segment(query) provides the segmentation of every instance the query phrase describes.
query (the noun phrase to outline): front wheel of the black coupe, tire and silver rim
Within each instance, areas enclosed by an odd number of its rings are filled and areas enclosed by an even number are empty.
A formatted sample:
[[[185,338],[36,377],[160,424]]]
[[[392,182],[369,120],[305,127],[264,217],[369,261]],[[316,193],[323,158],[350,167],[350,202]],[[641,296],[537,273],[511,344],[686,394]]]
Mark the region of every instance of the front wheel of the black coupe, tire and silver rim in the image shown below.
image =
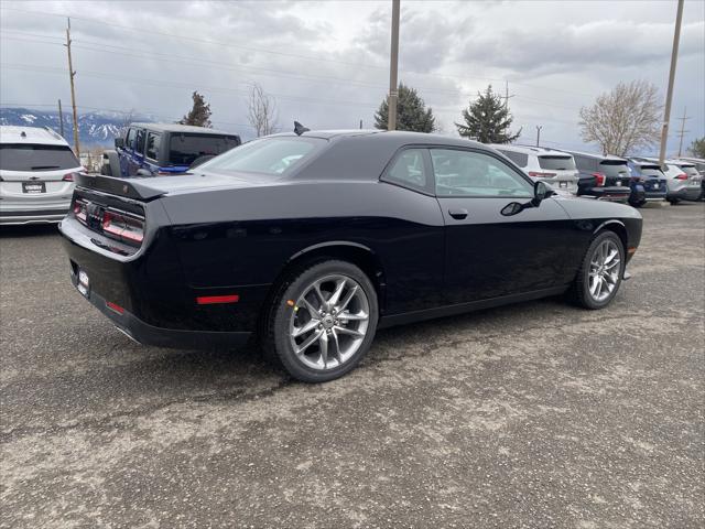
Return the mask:
[[[605,251],[608,252],[605,253]],[[617,255],[612,259],[608,259],[612,251],[617,251]],[[614,263],[615,258],[619,259],[616,264]],[[600,260],[604,262],[600,263]],[[610,264],[611,268],[609,268]],[[568,290],[568,299],[585,309],[604,309],[619,291],[625,266],[625,245],[619,236],[610,230],[597,234],[590,241],[581,268]],[[615,272],[615,268],[618,271]],[[596,283],[599,283],[597,289],[595,288]]]

